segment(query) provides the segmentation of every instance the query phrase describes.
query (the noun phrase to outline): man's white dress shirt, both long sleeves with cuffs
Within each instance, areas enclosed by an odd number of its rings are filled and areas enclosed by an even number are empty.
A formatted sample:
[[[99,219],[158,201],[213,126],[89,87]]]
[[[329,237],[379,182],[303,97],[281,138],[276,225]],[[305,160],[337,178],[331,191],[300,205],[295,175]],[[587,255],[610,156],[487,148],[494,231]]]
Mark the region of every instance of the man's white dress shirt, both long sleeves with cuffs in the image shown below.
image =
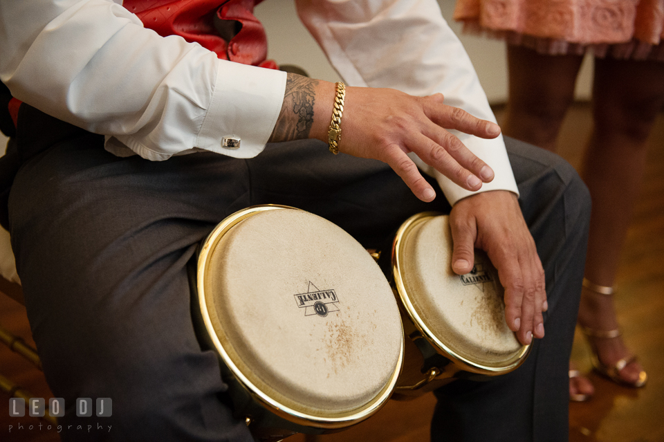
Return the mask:
[[[268,0],[269,1],[269,0]],[[259,154],[286,74],[220,60],[144,28],[120,0],[0,0],[0,80],[19,100],[106,136],[116,155]],[[220,0],[221,3],[221,0]],[[300,19],[349,86],[441,92],[495,121],[470,59],[435,0],[296,0]],[[518,193],[504,142],[455,133],[496,173],[481,191]],[[224,137],[241,139],[238,149]],[[419,158],[450,203],[472,194]]]

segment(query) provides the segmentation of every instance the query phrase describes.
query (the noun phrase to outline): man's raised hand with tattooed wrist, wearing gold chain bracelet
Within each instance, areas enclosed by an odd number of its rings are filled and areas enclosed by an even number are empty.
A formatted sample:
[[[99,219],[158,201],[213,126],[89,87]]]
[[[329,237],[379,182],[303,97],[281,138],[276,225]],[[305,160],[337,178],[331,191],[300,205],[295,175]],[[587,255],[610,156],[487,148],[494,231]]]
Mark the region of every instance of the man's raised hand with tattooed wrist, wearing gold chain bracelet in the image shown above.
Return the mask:
[[[288,74],[282,111],[270,141],[317,138],[327,142],[335,85]],[[339,151],[387,163],[422,201],[436,196],[415,163],[425,163],[464,189],[479,190],[494,173],[447,129],[495,138],[500,128],[443,104],[443,95],[414,97],[394,89],[348,87]]]

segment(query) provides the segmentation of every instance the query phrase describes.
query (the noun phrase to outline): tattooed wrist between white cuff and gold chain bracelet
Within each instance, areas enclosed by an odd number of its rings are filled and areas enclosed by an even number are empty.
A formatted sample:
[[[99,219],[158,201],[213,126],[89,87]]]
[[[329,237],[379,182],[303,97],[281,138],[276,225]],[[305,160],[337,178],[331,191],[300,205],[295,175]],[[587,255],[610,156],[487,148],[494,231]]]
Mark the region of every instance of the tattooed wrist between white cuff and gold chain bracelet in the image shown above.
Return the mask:
[[[313,125],[313,104],[317,80],[289,73],[286,94],[270,142],[308,138]]]

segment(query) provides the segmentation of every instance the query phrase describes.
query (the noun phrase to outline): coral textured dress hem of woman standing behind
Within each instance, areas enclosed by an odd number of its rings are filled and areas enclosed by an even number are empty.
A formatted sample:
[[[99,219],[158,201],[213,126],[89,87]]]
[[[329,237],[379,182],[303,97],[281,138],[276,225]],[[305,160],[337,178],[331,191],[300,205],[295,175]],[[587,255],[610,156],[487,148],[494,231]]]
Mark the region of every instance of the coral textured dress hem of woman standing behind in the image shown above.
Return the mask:
[[[458,0],[454,19],[539,53],[664,61],[664,0]]]

